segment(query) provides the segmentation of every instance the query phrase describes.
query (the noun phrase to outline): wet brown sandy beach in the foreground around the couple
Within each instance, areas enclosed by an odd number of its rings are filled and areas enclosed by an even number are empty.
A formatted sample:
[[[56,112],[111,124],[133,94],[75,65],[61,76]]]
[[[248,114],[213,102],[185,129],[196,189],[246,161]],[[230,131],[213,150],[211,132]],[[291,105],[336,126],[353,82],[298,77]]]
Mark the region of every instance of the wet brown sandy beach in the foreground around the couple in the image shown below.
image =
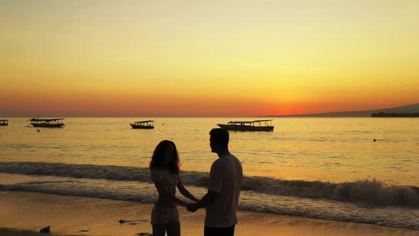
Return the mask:
[[[0,192],[0,235],[137,235],[151,232],[153,205],[121,200],[31,192]],[[182,235],[203,235],[204,210],[180,210]],[[119,223],[119,220],[124,223]],[[236,235],[419,235],[418,230],[239,212]]]

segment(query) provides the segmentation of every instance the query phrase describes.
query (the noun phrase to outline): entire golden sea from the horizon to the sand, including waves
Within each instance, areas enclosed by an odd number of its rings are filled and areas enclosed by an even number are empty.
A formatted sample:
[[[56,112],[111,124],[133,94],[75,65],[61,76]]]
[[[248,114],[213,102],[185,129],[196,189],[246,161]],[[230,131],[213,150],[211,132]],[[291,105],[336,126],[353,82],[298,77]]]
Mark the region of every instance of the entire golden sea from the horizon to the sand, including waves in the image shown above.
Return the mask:
[[[4,119],[0,191],[153,203],[148,164],[160,141],[175,142],[181,179],[200,198],[218,158],[209,131],[268,118],[68,117],[62,128]],[[131,129],[145,119],[155,129]],[[230,132],[244,168],[240,210],[419,230],[419,119],[269,119],[273,132]]]

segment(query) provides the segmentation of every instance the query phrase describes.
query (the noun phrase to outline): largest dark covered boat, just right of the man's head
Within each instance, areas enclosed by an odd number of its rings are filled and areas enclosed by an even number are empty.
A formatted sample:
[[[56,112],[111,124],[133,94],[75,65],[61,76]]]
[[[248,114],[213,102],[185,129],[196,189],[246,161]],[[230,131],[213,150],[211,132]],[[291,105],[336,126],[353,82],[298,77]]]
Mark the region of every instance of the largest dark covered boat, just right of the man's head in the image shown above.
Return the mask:
[[[273,131],[272,119],[258,119],[249,122],[231,121],[227,124],[217,124],[222,129],[235,131]]]

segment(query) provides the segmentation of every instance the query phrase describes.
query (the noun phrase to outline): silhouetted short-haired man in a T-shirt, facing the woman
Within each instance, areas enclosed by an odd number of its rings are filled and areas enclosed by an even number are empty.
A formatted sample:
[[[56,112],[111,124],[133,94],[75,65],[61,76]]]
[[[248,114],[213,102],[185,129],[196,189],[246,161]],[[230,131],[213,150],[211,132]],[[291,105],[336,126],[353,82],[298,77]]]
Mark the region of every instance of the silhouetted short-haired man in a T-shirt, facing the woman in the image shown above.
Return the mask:
[[[207,208],[205,215],[205,236],[234,235],[237,224],[236,211],[243,178],[243,169],[236,156],[229,152],[229,132],[212,129],[209,132],[209,146],[218,155],[209,172],[208,192],[197,203],[187,205],[187,210],[195,212]]]

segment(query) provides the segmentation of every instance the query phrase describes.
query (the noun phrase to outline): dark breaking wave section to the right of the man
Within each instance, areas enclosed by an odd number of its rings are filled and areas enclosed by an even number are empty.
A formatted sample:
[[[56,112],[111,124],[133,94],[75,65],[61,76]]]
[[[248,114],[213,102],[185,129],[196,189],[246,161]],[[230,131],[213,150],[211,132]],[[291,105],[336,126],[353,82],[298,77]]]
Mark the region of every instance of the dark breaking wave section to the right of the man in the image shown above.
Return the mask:
[[[257,176],[245,177],[243,189],[272,195],[295,195],[303,198],[328,198],[372,205],[401,205],[419,208],[418,187],[393,186],[376,179],[330,183],[288,181]]]

